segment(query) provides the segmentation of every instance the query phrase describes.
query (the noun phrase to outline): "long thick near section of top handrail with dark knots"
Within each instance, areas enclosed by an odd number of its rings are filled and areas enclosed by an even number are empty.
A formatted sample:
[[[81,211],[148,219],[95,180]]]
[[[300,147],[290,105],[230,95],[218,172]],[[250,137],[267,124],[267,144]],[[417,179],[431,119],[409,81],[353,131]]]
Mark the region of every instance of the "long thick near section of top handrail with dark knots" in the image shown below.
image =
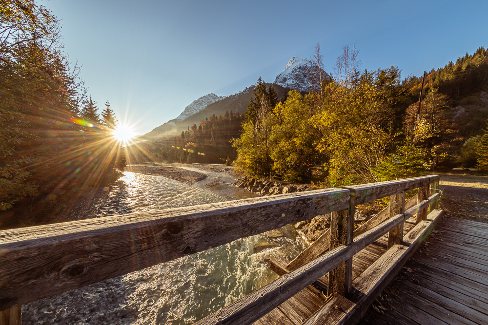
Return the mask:
[[[346,209],[348,199],[328,189],[4,230],[0,309]]]

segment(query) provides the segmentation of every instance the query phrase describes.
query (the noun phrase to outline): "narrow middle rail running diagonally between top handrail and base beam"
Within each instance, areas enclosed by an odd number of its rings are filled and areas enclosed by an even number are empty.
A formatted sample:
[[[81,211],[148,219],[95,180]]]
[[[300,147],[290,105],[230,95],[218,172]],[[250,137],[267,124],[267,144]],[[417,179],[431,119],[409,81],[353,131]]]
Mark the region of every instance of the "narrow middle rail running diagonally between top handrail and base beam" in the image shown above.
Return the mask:
[[[428,201],[422,204],[427,206]],[[409,211],[405,215],[397,215],[387,220],[355,238],[349,246],[339,246],[332,249],[306,265],[248,294],[241,300],[205,317],[196,324],[252,324],[256,319],[259,319],[298,291],[324,276],[325,273],[346,262],[351,256],[366,248],[379,236],[397,227],[405,220],[408,213]]]

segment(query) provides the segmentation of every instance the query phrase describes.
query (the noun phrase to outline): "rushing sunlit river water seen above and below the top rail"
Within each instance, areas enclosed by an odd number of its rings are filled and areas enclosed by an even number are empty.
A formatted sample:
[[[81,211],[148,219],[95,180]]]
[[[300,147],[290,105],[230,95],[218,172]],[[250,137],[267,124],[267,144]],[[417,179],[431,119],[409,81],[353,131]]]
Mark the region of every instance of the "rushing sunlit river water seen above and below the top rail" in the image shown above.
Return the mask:
[[[125,172],[92,216],[226,201],[204,188]],[[270,238],[277,237],[278,238]],[[304,249],[293,228],[260,234],[24,305],[24,324],[192,324],[277,276],[269,259]]]

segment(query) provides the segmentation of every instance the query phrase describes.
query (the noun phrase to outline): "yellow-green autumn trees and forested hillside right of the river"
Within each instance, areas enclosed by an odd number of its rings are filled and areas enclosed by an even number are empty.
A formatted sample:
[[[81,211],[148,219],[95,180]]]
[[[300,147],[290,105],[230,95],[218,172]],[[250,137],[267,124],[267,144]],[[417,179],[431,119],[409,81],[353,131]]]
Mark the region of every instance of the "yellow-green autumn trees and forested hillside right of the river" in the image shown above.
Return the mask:
[[[305,96],[291,91],[276,105],[258,85],[243,134],[233,141],[238,169],[338,186],[480,163],[480,143],[488,143],[482,138],[488,109],[483,47],[427,75],[418,122],[422,78],[401,79],[393,65],[360,71],[356,58],[345,47],[336,74],[320,89]]]

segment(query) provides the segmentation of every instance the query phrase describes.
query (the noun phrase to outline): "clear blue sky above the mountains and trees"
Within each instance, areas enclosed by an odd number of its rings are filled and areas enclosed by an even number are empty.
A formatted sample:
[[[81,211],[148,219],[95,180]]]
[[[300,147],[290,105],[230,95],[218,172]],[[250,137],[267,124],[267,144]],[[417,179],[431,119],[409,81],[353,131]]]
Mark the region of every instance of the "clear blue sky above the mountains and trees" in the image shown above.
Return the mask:
[[[364,69],[421,75],[488,46],[488,1],[40,1],[62,19],[88,94],[137,134],[208,93],[227,96],[321,43],[330,72],[344,45]]]

